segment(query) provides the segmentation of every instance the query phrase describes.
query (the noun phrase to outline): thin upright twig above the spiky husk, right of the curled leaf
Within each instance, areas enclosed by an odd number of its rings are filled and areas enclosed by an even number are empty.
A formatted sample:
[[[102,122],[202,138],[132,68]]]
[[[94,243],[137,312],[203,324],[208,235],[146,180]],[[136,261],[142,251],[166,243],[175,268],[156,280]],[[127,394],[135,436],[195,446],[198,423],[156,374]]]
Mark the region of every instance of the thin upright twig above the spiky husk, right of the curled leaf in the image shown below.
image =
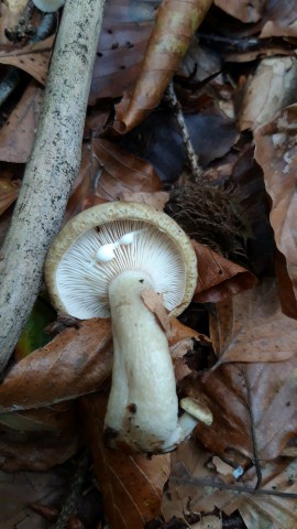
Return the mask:
[[[199,160],[198,156],[194,150],[187,126],[185,123],[183,110],[180,102],[178,101],[175,90],[174,90],[174,85],[173,83],[169,83],[168,88],[167,88],[167,100],[169,105],[172,106],[174,110],[174,116],[178,126],[179,133],[182,136],[185,151],[186,151],[186,158],[188,165],[190,168],[190,171],[196,179],[200,179],[204,174],[202,168],[199,165]]]

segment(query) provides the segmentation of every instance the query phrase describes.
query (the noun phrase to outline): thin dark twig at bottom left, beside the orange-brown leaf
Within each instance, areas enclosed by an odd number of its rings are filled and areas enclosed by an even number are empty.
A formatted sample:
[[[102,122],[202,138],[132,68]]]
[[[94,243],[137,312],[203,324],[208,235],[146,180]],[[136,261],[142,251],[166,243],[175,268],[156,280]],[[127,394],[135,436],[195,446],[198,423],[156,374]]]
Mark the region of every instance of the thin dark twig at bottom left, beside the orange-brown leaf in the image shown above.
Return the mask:
[[[65,529],[69,516],[72,514],[75,514],[79,495],[81,492],[81,487],[84,485],[84,482],[86,479],[86,475],[88,472],[89,461],[90,458],[89,458],[88,452],[85,451],[79,460],[78,468],[74,476],[70,492],[63,504],[57,521],[55,522],[54,526],[52,526],[51,529]]]

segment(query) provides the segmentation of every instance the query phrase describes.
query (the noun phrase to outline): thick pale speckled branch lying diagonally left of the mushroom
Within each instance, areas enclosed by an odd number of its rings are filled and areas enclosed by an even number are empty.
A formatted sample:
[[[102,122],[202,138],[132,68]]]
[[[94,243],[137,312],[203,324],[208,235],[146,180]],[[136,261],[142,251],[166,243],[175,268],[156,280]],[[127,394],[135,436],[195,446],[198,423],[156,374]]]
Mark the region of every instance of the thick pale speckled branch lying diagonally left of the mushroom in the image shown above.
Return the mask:
[[[0,263],[0,371],[42,282],[47,249],[80,163],[81,138],[105,0],[67,0],[35,143]]]

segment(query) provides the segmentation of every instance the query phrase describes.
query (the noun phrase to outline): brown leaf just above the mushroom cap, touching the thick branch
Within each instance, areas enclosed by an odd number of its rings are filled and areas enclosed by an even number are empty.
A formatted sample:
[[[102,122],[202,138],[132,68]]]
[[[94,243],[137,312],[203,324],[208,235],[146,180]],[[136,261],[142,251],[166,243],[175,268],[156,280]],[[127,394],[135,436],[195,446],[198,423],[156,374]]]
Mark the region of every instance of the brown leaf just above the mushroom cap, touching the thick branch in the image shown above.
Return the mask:
[[[116,143],[95,138],[82,147],[80,170],[65,222],[96,203],[118,201],[123,192],[155,192],[161,186],[158,175],[148,162]]]

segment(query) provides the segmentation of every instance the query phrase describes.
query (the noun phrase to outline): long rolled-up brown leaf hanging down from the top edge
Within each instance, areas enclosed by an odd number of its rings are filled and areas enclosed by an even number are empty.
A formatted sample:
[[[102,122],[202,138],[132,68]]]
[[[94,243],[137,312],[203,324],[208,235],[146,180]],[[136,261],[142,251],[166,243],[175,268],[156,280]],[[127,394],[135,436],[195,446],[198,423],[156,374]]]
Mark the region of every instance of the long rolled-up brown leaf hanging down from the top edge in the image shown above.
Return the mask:
[[[125,95],[117,107],[117,132],[136,127],[160,104],[211,4],[212,0],[163,0],[133,95]]]

